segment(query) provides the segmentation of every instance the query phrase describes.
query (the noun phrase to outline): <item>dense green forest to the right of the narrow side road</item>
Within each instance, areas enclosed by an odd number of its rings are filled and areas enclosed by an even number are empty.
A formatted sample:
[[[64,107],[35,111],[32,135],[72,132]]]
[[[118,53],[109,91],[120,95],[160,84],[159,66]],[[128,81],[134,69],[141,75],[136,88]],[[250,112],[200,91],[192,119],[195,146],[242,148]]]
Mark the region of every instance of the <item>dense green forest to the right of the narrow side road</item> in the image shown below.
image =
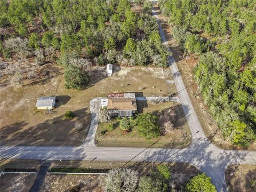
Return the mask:
[[[256,139],[255,1],[160,1],[183,57],[199,57],[199,90],[223,136]]]

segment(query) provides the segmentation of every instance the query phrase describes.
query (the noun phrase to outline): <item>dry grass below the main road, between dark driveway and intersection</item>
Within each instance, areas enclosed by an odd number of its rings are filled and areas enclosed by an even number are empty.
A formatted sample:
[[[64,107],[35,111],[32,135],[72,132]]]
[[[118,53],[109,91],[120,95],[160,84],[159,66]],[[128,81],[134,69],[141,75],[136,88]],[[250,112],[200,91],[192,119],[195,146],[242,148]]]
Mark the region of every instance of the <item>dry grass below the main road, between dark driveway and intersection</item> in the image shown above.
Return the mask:
[[[94,169],[113,169],[125,167],[137,170],[140,177],[150,175],[156,172],[156,166],[165,164],[171,171],[172,179],[177,189],[185,186],[186,183],[195,175],[201,173],[196,167],[188,163],[158,163],[158,162],[77,162],[77,161],[63,161],[62,163],[54,164],[54,168],[61,167],[90,167]],[[74,186],[81,186],[81,191],[102,191],[103,185],[102,176],[89,176],[89,175],[46,175],[44,184],[41,191],[67,191]]]

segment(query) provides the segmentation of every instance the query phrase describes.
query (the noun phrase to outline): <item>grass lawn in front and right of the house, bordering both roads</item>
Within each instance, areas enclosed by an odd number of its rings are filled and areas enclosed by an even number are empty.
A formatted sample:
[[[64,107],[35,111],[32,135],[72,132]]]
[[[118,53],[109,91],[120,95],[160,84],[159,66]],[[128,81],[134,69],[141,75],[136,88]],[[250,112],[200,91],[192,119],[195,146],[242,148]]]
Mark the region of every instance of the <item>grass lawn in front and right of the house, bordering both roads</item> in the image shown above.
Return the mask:
[[[144,102],[138,102],[138,109],[142,113],[147,112],[160,112],[162,113],[166,109],[173,108],[176,111],[174,119],[175,129],[163,137],[157,139],[146,140],[140,137],[138,134],[138,126],[136,120],[131,120],[131,131],[124,135],[122,130],[119,128],[119,121],[116,119],[110,122],[114,125],[115,129],[107,131],[102,134],[102,131],[107,130],[109,123],[99,123],[98,130],[95,139],[98,140],[97,146],[109,146],[109,147],[155,147],[155,148],[182,148],[189,145],[191,138],[189,137],[190,131],[186,122],[186,117],[183,114],[182,108],[178,103],[164,102],[157,103],[156,105],[146,104]],[[182,135],[187,134],[187,137]]]

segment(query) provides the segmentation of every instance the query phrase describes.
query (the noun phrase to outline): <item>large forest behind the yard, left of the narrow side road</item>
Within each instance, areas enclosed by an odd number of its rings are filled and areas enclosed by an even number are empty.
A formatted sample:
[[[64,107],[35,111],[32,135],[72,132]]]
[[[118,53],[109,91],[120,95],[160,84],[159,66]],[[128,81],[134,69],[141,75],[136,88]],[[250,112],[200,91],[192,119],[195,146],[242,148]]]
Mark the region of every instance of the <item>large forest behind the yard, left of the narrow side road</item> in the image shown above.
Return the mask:
[[[133,11],[126,0],[1,0],[1,68],[21,84],[35,73],[28,67],[25,75],[15,63],[57,61],[65,68],[65,86],[79,90],[90,81],[92,65],[166,67],[167,48],[151,16],[151,3],[133,4],[142,9]]]

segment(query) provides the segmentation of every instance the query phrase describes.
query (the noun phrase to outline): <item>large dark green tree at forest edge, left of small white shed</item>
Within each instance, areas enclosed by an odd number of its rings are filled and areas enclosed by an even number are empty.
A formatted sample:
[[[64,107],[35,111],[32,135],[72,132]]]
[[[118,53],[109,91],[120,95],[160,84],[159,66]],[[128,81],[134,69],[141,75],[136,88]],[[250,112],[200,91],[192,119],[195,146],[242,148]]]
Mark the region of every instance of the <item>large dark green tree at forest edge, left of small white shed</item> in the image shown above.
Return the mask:
[[[80,67],[69,66],[65,69],[65,87],[67,89],[82,90],[90,81],[89,74]]]

